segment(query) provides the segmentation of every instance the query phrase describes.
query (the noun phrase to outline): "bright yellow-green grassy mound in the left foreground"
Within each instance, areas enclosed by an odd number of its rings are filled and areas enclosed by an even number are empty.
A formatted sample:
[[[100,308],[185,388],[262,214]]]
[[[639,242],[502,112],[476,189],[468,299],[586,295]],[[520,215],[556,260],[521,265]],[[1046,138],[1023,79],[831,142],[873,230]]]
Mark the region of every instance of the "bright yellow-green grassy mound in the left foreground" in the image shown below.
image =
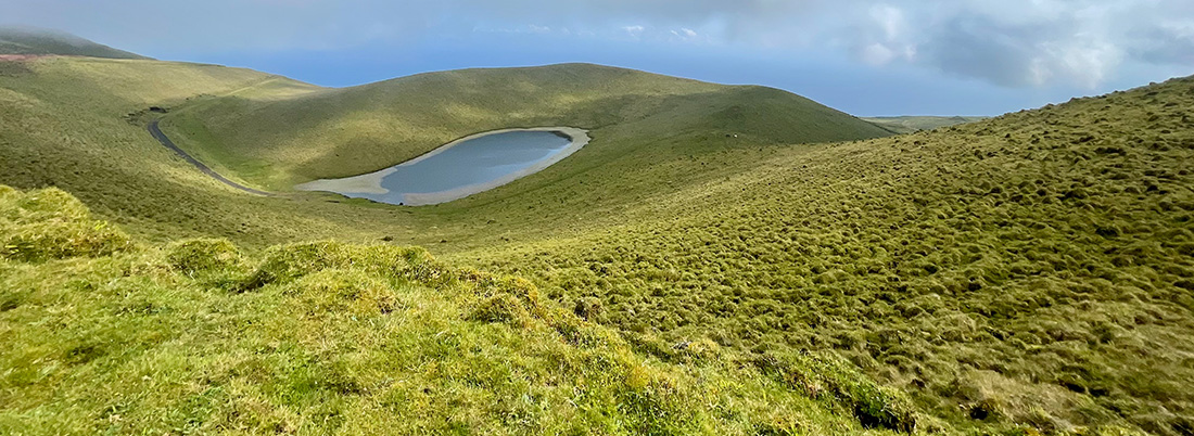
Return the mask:
[[[0,432],[891,434],[934,426],[832,355],[628,343],[421,248],[130,244],[0,186]],[[918,425],[919,424],[919,425]]]

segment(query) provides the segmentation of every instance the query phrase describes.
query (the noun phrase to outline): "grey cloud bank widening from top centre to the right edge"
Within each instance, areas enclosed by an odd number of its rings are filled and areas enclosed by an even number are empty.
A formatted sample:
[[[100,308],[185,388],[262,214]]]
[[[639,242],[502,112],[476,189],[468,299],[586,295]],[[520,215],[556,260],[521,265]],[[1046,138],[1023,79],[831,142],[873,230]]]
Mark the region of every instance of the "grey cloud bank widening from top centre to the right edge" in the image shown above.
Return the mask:
[[[838,47],[870,63],[907,63],[1007,87],[1095,87],[1125,62],[1194,67],[1189,0],[523,0],[516,5],[505,12],[535,10],[566,20],[586,17],[581,24],[683,25],[721,43],[767,45],[793,55]]]

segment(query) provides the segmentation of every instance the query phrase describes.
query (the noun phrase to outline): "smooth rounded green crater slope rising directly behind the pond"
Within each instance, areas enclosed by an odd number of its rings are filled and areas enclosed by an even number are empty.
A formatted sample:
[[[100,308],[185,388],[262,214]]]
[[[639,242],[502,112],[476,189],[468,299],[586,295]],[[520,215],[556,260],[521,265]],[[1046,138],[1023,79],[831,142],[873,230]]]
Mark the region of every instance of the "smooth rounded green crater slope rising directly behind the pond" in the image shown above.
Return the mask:
[[[288,98],[229,96],[166,117],[164,130],[205,161],[248,182],[298,182],[371,172],[451,140],[509,127],[591,129],[573,160],[602,160],[684,135],[800,143],[887,135],[802,97],[595,65],[419,74]]]

